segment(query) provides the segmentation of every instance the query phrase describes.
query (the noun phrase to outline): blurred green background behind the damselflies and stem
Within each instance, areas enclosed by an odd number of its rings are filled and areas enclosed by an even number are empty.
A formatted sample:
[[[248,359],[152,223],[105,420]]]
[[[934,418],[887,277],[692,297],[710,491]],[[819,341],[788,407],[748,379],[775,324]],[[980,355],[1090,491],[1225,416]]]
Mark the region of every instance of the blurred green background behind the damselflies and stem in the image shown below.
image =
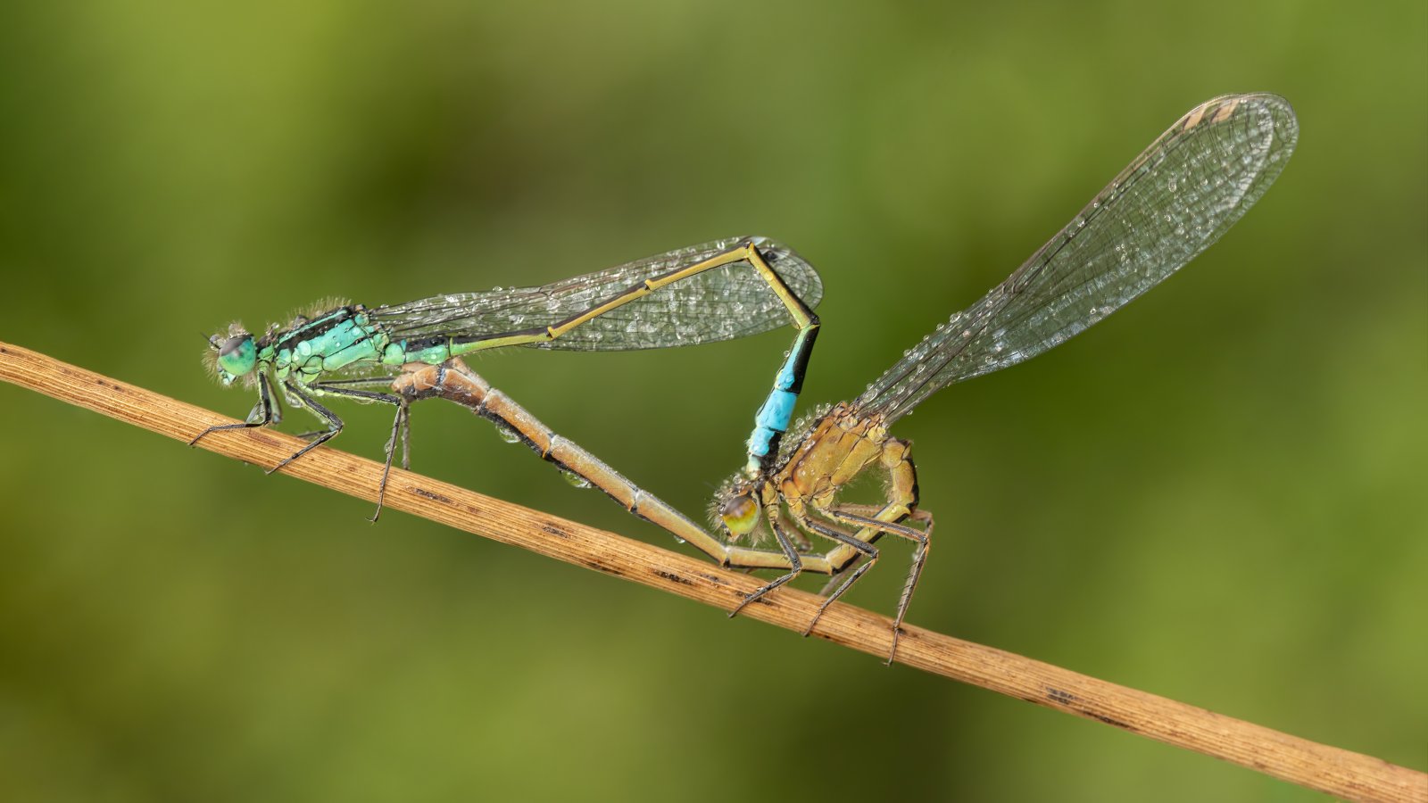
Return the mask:
[[[1194,104],[1298,153],[1191,269],[900,423],[910,620],[1415,767],[1428,10],[74,3],[0,11],[0,340],[243,416],[200,333],[763,233],[854,396]],[[700,514],[788,331],[474,363]],[[668,546],[464,410],[423,473]],[[0,387],[11,800],[1312,800]],[[377,456],[386,410],[343,406]],[[294,416],[288,432],[307,429]],[[901,546],[851,599],[890,612]],[[817,587],[817,582],[810,583]],[[757,690],[777,704],[744,706]]]

